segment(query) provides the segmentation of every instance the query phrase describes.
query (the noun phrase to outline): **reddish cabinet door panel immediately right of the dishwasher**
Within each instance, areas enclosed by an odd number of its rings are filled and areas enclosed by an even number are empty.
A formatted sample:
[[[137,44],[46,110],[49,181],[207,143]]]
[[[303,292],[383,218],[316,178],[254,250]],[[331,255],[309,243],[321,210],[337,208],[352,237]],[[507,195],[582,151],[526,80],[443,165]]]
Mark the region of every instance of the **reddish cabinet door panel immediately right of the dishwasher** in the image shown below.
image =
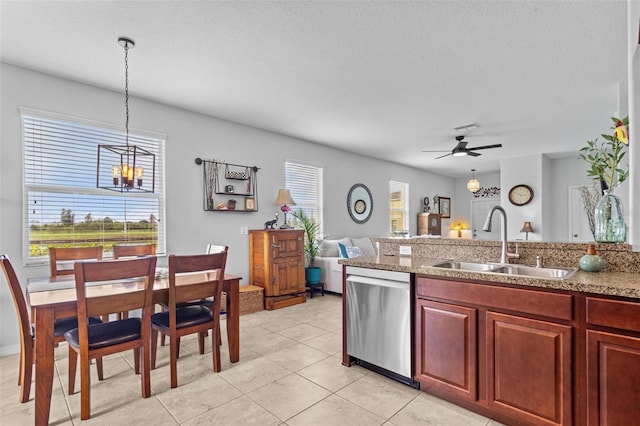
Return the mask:
[[[476,310],[418,300],[417,380],[477,399]]]

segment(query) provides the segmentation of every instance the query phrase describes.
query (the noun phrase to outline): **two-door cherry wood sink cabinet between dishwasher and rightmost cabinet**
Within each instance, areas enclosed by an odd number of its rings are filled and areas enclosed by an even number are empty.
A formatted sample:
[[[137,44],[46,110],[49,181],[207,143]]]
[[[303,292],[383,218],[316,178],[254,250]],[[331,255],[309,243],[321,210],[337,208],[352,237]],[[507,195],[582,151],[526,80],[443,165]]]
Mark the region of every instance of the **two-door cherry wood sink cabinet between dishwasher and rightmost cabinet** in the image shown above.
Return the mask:
[[[571,425],[573,296],[416,278],[415,379],[506,424]]]

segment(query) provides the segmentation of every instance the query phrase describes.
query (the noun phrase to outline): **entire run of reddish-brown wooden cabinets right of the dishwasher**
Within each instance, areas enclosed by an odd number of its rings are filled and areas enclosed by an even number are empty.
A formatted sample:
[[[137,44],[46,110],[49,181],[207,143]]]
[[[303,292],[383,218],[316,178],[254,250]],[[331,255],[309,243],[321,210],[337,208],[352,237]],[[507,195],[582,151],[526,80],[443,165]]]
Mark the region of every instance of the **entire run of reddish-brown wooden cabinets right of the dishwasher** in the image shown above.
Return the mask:
[[[638,424],[637,300],[421,275],[415,285],[426,392],[505,424]]]

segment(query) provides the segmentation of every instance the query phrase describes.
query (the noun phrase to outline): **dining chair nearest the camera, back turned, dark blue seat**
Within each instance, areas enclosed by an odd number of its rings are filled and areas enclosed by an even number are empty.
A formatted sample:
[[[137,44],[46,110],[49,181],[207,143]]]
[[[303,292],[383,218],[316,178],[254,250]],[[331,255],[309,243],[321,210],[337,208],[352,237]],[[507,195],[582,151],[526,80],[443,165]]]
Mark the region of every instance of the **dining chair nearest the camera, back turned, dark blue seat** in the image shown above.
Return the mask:
[[[141,372],[142,396],[151,396],[150,330],[153,310],[153,283],[156,272],[155,256],[107,262],[76,262],[76,295],[78,323],[76,329],[64,334],[69,343],[69,389],[75,384],[77,357],[80,355],[80,419],[91,417],[90,374],[91,359],[133,349],[135,370]],[[91,296],[87,283],[138,280],[138,285],[121,294],[118,299],[97,293]],[[129,283],[131,284],[131,283]],[[142,308],[142,318],[127,318],[102,324],[87,325],[93,315],[104,315]],[[142,349],[142,351],[140,351]]]

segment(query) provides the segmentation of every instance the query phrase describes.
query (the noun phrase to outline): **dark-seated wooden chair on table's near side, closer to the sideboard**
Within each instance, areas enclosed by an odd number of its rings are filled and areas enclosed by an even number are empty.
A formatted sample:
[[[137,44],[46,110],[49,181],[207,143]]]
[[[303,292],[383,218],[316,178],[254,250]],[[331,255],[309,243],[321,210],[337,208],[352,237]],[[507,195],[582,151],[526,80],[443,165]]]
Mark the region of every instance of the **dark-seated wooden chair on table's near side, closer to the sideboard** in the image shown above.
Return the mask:
[[[226,250],[214,254],[169,256],[169,310],[151,317],[151,366],[155,367],[157,334],[160,332],[169,336],[172,388],[178,386],[177,361],[181,336],[198,333],[200,354],[204,354],[204,333],[211,330],[213,371],[220,371],[220,333],[217,329],[220,328],[220,296],[226,262]],[[177,279],[200,285],[176,285]],[[189,304],[207,297],[213,297],[212,309],[200,303]],[[182,303],[187,305],[180,306]]]

